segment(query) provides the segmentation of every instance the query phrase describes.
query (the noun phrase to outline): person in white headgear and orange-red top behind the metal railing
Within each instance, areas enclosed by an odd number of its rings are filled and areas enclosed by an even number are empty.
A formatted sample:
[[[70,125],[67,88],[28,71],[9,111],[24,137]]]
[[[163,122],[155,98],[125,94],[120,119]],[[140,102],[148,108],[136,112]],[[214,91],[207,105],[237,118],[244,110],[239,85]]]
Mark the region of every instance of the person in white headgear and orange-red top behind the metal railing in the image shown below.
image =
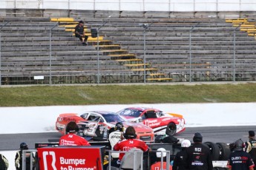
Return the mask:
[[[166,150],[164,148],[159,148],[157,149],[157,162],[151,165],[151,170],[159,170],[159,169],[166,169]],[[162,156],[162,152],[163,152],[163,156]],[[161,163],[161,157],[163,157],[163,167],[162,167],[162,163]],[[171,170],[171,165],[169,165],[169,170]]]

